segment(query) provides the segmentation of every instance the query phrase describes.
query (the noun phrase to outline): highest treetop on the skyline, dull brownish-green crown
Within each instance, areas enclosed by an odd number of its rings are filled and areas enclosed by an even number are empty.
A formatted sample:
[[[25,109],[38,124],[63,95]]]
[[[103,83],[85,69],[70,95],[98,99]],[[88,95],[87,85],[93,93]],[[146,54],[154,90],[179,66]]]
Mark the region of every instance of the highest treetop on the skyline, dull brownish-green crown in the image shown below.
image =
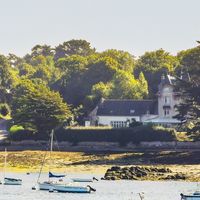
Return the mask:
[[[95,53],[95,49],[91,48],[90,43],[86,40],[70,40],[63,42],[55,48],[54,59],[64,58],[71,55],[89,56]]]

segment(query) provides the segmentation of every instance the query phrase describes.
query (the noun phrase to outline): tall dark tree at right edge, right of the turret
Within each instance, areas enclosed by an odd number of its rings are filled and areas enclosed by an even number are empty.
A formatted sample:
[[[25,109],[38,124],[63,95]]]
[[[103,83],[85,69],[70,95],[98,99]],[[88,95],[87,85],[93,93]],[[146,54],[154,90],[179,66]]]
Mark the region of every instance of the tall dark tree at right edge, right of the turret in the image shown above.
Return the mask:
[[[200,46],[178,54],[180,58],[181,77],[179,75],[177,90],[182,102],[177,106],[181,120],[189,136],[200,139]]]

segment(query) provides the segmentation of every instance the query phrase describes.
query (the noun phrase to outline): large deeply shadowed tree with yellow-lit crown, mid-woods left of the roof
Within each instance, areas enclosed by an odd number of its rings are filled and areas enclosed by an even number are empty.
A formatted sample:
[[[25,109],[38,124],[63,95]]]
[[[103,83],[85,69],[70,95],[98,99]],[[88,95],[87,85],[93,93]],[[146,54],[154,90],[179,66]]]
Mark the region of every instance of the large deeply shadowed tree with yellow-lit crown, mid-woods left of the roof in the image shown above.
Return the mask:
[[[87,60],[80,56],[69,56],[58,61],[65,69],[61,78],[60,93],[66,102],[77,107],[83,104],[86,96],[91,95],[93,85],[112,80],[117,62],[110,57]]]

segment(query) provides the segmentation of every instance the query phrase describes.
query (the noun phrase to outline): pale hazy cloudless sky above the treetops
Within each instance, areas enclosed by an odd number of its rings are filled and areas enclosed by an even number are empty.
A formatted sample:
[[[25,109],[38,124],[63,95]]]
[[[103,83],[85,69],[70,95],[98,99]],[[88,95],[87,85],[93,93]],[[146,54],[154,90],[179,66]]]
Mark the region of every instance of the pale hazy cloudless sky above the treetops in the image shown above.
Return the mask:
[[[0,0],[0,53],[85,39],[98,51],[173,54],[200,40],[200,0]]]

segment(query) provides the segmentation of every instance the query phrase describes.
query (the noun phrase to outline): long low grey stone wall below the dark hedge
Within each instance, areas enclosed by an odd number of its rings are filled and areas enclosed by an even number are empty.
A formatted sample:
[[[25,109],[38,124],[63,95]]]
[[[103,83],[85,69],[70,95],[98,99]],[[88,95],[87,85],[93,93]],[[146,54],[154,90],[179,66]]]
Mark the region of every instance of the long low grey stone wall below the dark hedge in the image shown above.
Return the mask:
[[[20,141],[11,142],[10,144],[1,144],[0,150],[4,150],[8,146],[10,150],[46,150],[48,148],[47,141]],[[63,151],[133,151],[141,149],[191,149],[200,150],[199,142],[141,142],[138,145],[128,143],[126,146],[120,147],[116,142],[79,142],[77,145],[72,145],[70,142],[55,143],[55,150],[59,146]]]

